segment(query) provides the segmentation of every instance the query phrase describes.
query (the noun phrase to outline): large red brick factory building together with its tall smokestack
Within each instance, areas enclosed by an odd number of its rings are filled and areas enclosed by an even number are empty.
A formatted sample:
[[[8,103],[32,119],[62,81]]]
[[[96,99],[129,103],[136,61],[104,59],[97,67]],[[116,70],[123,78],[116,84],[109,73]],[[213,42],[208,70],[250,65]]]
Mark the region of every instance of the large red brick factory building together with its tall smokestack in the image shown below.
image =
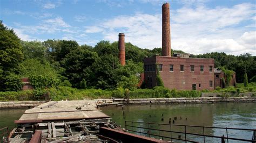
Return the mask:
[[[175,53],[171,56],[169,3],[162,6],[162,55],[144,59],[144,82],[148,88],[157,86],[157,65],[166,88],[214,89],[214,59],[189,58],[188,54],[182,53]]]

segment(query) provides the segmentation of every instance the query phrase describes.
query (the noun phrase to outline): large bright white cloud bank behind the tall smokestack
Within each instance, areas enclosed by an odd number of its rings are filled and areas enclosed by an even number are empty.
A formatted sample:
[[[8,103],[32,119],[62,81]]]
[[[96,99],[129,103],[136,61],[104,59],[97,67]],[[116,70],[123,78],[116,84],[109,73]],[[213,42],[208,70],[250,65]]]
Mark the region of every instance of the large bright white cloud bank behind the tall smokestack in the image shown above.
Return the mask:
[[[232,8],[184,7],[171,11],[171,45],[187,53],[226,52],[256,55],[255,32],[240,26],[255,18],[253,4],[238,4]],[[118,16],[91,26],[87,32],[103,33],[104,40],[117,41],[125,33],[126,42],[142,48],[161,47],[161,14],[137,13]]]

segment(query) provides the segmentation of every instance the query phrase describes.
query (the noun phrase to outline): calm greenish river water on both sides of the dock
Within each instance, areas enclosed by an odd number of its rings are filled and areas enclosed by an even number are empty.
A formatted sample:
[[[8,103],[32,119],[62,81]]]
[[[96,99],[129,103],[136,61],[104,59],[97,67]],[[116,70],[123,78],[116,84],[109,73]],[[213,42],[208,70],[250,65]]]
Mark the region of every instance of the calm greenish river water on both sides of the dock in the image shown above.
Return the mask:
[[[0,128],[9,126],[14,128],[14,120],[19,119],[26,109],[2,109],[0,110]],[[214,127],[233,127],[233,128],[256,128],[256,104],[255,103],[217,103],[217,104],[160,104],[160,105],[132,105],[116,107],[109,106],[100,108],[104,113],[112,117],[113,121],[125,127],[125,120],[144,121],[150,123],[169,124],[169,120],[174,120],[176,124],[198,125],[198,126],[214,126]],[[124,113],[123,113],[124,112]],[[124,116],[123,116],[124,114]],[[181,118],[180,118],[181,117]],[[162,118],[164,119],[162,121]],[[186,120],[187,118],[187,120]],[[172,121],[171,121],[171,124]],[[136,124],[134,124],[136,125]],[[142,127],[148,125],[141,124]],[[153,126],[158,128],[158,126]],[[170,126],[160,126],[160,129],[170,130]],[[172,127],[172,131],[184,131],[181,127]],[[188,128],[187,132],[203,133],[202,128]],[[142,131],[142,130],[137,130]],[[144,132],[146,132],[144,130]],[[159,132],[153,132],[158,134]],[[205,129],[205,134],[209,135],[225,135],[226,130]],[[144,134],[142,134],[144,135]],[[178,138],[178,133],[160,132],[160,135]],[[228,137],[252,139],[252,132],[228,130]],[[155,137],[158,138],[158,137]],[[181,138],[184,135],[181,134]],[[187,139],[203,142],[203,138],[187,135]],[[164,140],[167,140],[164,138]],[[217,138],[205,138],[206,142],[220,142]],[[238,142],[232,141],[229,142]]]

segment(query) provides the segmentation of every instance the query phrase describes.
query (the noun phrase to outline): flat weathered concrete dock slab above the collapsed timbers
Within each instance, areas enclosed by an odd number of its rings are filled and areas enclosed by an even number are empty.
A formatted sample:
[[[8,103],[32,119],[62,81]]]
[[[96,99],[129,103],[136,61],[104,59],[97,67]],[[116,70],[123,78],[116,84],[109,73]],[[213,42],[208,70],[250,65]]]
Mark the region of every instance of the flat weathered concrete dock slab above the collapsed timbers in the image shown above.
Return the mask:
[[[51,101],[28,109],[15,123],[42,123],[49,120],[109,118],[96,108],[95,100]]]

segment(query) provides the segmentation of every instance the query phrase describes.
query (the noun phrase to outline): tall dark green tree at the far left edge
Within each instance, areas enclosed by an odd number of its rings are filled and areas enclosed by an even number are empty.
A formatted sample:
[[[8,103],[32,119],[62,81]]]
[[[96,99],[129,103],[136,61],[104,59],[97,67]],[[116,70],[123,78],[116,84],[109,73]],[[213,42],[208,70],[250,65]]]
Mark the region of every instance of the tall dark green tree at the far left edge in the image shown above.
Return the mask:
[[[17,90],[16,87],[19,87],[21,81],[21,78],[17,76],[18,64],[22,60],[21,40],[0,20],[0,91]],[[14,77],[18,79],[13,80]],[[15,86],[11,88],[9,85]]]

